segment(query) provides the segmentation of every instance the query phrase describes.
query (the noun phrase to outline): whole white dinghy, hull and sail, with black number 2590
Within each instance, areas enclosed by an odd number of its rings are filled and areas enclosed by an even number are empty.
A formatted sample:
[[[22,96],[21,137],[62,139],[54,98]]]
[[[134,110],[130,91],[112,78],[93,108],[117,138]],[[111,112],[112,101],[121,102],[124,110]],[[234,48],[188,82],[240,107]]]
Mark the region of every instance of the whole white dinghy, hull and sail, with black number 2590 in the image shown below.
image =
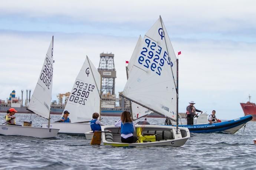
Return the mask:
[[[51,122],[50,127],[59,128],[59,133],[85,136],[85,132],[91,131],[90,123],[85,122],[90,122],[94,112],[101,114],[100,89],[101,76],[86,56],[64,108],[70,113],[71,123]],[[42,123],[42,126],[46,127],[47,123]]]

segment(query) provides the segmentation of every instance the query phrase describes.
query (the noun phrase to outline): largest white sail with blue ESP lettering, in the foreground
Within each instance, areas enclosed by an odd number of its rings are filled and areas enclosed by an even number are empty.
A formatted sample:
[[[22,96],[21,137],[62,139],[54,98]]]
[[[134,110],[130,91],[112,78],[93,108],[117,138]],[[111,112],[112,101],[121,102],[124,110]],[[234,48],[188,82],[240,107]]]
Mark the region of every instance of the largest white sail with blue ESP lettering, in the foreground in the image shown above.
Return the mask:
[[[167,31],[159,18],[144,36],[122,95],[176,120],[175,60]]]

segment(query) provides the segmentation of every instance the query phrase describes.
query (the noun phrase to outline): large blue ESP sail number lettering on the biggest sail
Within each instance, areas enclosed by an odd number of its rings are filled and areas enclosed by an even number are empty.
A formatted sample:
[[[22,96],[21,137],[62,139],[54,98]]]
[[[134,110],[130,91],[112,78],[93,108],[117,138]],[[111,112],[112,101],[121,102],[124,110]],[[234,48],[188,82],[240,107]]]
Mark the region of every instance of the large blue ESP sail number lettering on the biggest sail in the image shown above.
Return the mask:
[[[143,47],[138,58],[138,63],[146,68],[150,68],[156,74],[161,75],[162,67],[165,62],[173,67],[173,62],[166,51],[162,51],[162,47],[145,39],[146,47]]]

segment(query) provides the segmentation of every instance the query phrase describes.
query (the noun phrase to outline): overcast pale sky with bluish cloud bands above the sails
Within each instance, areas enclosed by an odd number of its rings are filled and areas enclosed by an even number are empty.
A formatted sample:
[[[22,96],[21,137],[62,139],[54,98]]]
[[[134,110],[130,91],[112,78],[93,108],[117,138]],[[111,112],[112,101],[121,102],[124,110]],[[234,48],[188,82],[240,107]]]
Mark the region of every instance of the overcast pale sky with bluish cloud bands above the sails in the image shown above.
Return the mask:
[[[115,54],[115,92],[125,82],[139,35],[163,18],[179,55],[179,112],[188,102],[221,119],[243,116],[240,102],[256,102],[256,2],[12,1],[0,0],[0,99],[15,89],[35,88],[54,35],[52,99],[70,92],[86,55],[96,68],[99,54]]]

